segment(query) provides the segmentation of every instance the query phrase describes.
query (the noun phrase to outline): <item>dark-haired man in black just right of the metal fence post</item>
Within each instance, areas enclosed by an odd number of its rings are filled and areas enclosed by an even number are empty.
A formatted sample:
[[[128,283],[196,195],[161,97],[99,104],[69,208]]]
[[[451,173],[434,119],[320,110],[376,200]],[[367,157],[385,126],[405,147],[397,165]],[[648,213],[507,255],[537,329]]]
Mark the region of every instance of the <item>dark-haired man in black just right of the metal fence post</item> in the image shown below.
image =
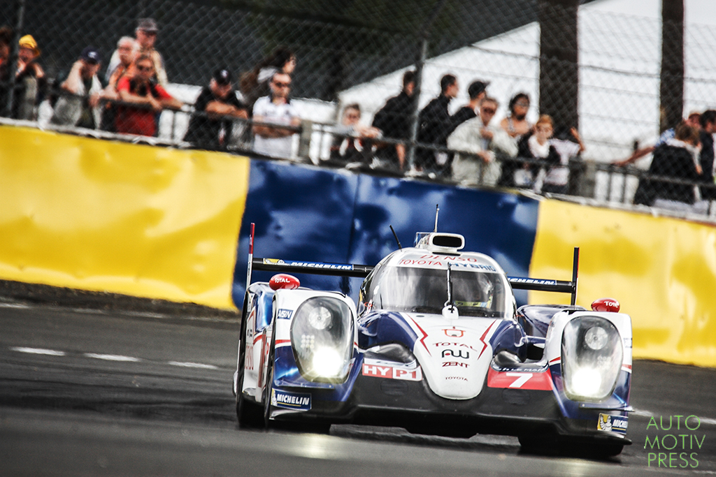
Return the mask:
[[[417,142],[448,147],[448,136],[455,129],[448,107],[459,91],[458,79],[453,74],[440,79],[440,95],[427,103],[417,117]],[[447,152],[419,148],[415,151],[415,169],[442,175],[450,170],[449,159]]]

